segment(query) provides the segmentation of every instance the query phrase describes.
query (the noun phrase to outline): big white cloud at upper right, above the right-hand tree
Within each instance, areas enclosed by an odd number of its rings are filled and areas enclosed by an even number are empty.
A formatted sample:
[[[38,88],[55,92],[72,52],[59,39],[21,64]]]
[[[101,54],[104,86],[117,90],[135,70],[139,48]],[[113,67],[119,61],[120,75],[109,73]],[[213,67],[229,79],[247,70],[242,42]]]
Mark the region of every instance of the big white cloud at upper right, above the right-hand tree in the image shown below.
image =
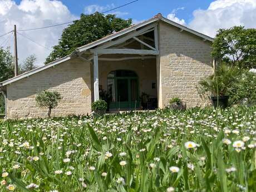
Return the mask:
[[[256,27],[255,0],[216,0],[208,9],[196,9],[188,27],[214,37],[219,28]]]

